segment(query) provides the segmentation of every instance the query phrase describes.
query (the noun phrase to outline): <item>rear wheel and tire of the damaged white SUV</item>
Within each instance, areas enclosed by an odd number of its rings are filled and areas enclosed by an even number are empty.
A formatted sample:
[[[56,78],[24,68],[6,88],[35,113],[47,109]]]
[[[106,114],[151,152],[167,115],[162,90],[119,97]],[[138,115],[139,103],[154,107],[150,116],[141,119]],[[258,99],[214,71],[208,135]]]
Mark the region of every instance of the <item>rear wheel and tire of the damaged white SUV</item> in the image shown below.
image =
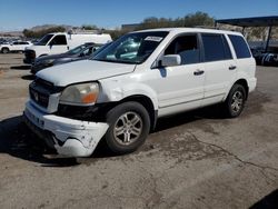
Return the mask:
[[[246,99],[246,89],[241,84],[234,84],[224,103],[224,110],[226,116],[228,118],[238,117],[245,108]]]

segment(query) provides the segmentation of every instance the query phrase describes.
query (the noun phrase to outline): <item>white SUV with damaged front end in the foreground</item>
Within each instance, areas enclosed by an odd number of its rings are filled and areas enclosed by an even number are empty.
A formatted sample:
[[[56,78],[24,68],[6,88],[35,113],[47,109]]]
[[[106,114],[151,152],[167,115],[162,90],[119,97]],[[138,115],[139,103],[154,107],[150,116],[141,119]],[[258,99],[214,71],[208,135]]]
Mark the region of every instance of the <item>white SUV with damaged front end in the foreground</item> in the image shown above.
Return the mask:
[[[101,139],[127,153],[160,117],[220,102],[228,117],[239,116],[256,87],[255,71],[237,32],[131,32],[91,60],[38,72],[24,119],[59,155],[90,156]]]

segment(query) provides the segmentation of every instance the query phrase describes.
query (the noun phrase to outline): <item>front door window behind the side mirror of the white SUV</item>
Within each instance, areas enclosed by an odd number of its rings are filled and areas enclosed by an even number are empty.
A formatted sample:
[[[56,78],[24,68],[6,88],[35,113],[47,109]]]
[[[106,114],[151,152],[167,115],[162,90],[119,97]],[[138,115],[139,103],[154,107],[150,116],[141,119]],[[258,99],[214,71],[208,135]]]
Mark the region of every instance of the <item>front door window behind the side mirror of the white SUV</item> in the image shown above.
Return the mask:
[[[181,64],[200,62],[200,50],[197,34],[176,38],[165,50],[165,54],[179,54]]]

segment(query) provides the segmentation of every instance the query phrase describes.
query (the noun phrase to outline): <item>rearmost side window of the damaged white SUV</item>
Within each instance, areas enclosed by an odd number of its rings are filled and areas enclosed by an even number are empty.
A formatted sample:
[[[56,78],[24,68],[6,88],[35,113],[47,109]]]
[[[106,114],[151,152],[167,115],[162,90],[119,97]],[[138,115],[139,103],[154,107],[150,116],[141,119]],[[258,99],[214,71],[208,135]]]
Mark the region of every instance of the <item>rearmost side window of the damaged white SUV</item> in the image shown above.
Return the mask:
[[[248,46],[245,41],[245,39],[240,36],[229,34],[229,39],[232,43],[232,47],[236,51],[237,58],[250,58],[251,53],[248,49]]]

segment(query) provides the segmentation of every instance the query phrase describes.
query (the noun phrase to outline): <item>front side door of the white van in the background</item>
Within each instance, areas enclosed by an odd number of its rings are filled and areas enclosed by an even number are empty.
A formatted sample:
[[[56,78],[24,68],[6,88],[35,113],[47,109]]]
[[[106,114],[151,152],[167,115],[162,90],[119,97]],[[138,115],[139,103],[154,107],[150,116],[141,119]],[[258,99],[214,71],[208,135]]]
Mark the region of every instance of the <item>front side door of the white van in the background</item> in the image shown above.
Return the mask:
[[[68,51],[67,38],[64,34],[57,34],[49,42],[49,54],[63,53]]]

